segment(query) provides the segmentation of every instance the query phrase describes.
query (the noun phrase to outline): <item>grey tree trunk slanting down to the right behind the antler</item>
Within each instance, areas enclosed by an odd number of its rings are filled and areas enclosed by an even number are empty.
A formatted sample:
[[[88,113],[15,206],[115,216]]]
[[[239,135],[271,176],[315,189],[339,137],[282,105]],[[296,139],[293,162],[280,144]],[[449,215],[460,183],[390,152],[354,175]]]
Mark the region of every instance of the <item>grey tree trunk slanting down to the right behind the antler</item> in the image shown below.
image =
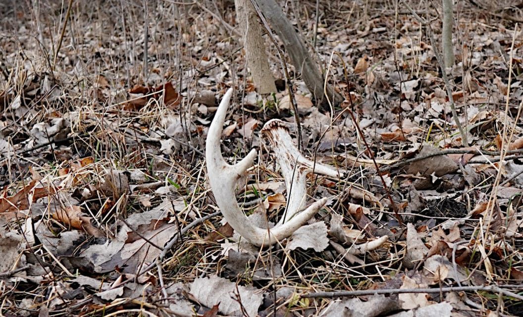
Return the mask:
[[[307,88],[311,91],[317,101],[324,104],[326,98],[323,92],[324,78],[318,65],[314,62],[300,35],[283,13],[281,7],[275,0],[257,1],[261,12],[269,21],[276,34],[283,41],[285,51],[289,54],[292,64],[297,73],[301,74]],[[327,97],[334,104],[341,103],[344,98],[327,85]]]

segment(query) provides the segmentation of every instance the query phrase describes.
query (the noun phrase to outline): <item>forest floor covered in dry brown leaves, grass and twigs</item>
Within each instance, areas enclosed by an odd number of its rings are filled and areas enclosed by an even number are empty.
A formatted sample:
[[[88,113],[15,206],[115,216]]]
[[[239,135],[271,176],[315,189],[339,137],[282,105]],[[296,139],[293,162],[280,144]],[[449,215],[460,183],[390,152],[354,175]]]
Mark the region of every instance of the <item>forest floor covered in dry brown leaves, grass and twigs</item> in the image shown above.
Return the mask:
[[[265,248],[225,224],[204,151],[233,87],[223,156],[259,151],[236,197],[281,217],[259,131],[297,131],[274,44],[280,91],[258,96],[231,1],[70,3],[0,2],[1,315],[523,315],[517,1],[456,1],[468,144],[439,2],[407,1],[430,28],[394,1],[280,2],[346,101],[316,103],[287,61],[302,152],[340,177],[310,177],[307,202],[327,203]]]

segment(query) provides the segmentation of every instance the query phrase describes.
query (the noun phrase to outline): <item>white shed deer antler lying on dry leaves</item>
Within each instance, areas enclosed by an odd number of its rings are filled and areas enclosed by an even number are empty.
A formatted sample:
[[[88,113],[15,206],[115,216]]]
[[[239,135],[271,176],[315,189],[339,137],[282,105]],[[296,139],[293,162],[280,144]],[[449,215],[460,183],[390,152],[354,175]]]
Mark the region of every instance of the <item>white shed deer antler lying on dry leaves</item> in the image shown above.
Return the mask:
[[[277,119],[268,121],[261,132],[269,139],[285,177],[287,208],[285,215],[274,228],[255,226],[238,206],[235,187],[238,179],[253,164],[257,155],[256,150],[249,152],[243,160],[234,165],[225,162],[220,150],[220,137],[231,95],[232,88],[223,96],[207,134],[206,161],[209,182],[216,203],[231,227],[250,243],[268,246],[290,236],[325,205],[327,198],[322,198],[301,211],[306,205],[306,176],[312,172],[331,177],[338,177],[339,174],[332,167],[315,164],[301,155],[282,121]]]

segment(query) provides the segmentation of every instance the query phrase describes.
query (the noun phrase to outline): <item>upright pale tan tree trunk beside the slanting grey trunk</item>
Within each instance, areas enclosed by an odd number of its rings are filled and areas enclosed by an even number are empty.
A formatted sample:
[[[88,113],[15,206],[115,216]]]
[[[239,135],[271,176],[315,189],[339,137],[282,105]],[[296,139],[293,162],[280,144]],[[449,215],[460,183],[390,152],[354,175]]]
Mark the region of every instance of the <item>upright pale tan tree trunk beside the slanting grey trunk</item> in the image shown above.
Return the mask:
[[[236,17],[240,32],[244,34],[243,43],[247,55],[247,67],[253,77],[259,94],[276,93],[274,77],[270,71],[264,39],[258,15],[250,0],[234,0]]]

